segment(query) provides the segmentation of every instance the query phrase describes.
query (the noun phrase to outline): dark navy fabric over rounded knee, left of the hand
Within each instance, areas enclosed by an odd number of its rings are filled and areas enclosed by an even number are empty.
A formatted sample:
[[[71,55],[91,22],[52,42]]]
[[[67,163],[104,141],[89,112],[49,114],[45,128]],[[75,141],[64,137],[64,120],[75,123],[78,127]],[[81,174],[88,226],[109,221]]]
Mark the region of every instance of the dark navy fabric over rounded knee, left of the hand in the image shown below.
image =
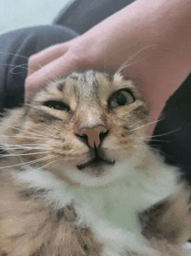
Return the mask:
[[[23,104],[28,58],[78,34],[63,26],[39,26],[0,36],[0,111]]]

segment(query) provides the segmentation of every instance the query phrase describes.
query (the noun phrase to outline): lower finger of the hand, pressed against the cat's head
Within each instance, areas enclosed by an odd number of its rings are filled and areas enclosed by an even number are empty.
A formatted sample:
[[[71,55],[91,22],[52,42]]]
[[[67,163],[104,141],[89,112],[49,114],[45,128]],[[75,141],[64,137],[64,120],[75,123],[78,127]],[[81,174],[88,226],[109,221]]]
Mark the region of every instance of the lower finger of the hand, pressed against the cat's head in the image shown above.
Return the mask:
[[[32,73],[25,80],[25,102],[30,100],[35,91],[40,90],[55,78],[65,77],[70,72],[76,71],[76,67],[76,59],[71,58],[71,54],[67,53],[64,57],[56,58],[42,69]]]

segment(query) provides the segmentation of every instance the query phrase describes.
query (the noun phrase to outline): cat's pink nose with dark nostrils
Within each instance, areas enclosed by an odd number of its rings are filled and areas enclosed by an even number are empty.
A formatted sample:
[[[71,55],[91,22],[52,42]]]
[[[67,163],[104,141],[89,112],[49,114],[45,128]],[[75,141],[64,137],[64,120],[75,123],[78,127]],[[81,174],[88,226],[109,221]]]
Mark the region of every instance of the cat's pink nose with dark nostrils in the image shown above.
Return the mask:
[[[91,148],[98,147],[101,144],[102,138],[104,138],[107,133],[108,130],[104,125],[98,125],[93,128],[84,127],[78,131],[78,135],[86,138]]]

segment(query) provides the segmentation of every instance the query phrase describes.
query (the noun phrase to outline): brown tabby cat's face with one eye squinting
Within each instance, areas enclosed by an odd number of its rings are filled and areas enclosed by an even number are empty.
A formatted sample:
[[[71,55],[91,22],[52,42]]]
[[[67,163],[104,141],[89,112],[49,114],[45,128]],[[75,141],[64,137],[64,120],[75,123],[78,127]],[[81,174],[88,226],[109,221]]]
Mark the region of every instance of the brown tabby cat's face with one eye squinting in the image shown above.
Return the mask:
[[[42,165],[55,162],[45,168],[86,184],[105,179],[119,163],[144,151],[145,129],[137,128],[147,123],[147,104],[132,81],[85,71],[36,93],[25,106],[16,143],[39,144],[39,155],[30,158],[47,156]]]

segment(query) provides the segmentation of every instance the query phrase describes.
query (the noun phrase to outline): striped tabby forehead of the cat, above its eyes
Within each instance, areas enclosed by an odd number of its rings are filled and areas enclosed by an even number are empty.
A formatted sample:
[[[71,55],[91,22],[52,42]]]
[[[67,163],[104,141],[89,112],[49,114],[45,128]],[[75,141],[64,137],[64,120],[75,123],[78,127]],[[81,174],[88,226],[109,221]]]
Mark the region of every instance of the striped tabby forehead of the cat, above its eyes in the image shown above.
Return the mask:
[[[102,98],[108,101],[115,91],[129,89],[135,95],[141,94],[131,80],[125,80],[120,74],[109,76],[99,71],[73,72],[68,77],[57,79],[48,84],[43,91],[36,94],[35,101],[57,99],[69,104],[74,98],[76,101],[94,102]],[[68,102],[69,101],[69,102]]]

